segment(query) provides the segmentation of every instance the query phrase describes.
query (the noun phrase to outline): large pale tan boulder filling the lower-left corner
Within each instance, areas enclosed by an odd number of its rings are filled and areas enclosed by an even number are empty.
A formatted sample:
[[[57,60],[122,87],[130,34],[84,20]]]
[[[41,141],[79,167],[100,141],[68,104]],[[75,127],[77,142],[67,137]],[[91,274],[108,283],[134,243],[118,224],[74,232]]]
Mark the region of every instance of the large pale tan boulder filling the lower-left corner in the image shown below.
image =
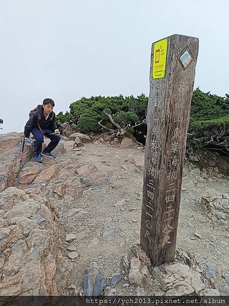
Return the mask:
[[[0,193],[0,292],[57,295],[58,214],[40,189]]]

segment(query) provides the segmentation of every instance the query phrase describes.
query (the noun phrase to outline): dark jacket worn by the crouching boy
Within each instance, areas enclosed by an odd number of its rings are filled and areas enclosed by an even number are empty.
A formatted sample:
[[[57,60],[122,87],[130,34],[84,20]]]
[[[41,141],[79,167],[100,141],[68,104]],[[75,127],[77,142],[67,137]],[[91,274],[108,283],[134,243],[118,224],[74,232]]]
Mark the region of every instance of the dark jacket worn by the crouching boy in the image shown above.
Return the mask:
[[[51,129],[52,132],[54,132],[57,129],[57,127],[55,125],[55,113],[51,112],[48,116],[48,119],[46,120],[45,116],[43,115],[43,110],[44,109],[43,109],[42,105],[37,106],[37,111],[33,112],[33,115],[30,117],[30,119],[28,119],[28,121],[25,124],[24,137],[30,137],[30,133],[31,133],[33,127],[37,127],[39,129],[38,124],[37,124],[38,113],[41,114],[41,120],[39,121],[41,130]],[[52,120],[50,120],[51,117],[52,117],[52,113],[53,113],[53,118],[52,118]]]

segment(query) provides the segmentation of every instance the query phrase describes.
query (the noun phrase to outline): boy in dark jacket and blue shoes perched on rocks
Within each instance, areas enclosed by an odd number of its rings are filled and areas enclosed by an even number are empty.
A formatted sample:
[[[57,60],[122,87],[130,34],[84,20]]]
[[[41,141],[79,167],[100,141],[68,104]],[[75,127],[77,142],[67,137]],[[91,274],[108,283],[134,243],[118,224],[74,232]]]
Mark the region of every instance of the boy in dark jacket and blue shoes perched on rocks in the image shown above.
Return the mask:
[[[30,119],[28,119],[24,127],[25,145],[33,144],[32,139],[30,139],[30,133],[34,135],[34,157],[38,163],[42,162],[41,150],[44,136],[47,136],[51,141],[42,151],[42,154],[51,158],[55,158],[51,151],[61,140],[60,132],[55,125],[54,106],[52,99],[44,99],[43,105],[38,105],[37,108],[30,112]]]

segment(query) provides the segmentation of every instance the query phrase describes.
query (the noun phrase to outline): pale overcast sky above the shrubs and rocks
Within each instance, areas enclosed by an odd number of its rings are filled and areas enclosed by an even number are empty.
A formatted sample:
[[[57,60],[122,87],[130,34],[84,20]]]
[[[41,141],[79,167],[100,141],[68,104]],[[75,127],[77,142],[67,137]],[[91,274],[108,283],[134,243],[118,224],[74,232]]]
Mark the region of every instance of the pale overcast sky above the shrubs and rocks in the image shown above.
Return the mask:
[[[149,95],[152,42],[199,38],[195,88],[229,93],[228,0],[0,0],[0,118],[21,132],[46,97]]]

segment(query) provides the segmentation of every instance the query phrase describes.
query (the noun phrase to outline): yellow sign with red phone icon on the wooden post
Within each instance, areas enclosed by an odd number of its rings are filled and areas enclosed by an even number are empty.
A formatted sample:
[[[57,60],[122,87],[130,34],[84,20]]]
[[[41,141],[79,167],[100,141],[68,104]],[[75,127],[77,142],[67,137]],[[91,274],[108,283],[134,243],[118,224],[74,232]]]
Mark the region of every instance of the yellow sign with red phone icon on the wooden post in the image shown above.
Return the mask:
[[[166,67],[167,39],[154,44],[153,79],[164,78]]]

